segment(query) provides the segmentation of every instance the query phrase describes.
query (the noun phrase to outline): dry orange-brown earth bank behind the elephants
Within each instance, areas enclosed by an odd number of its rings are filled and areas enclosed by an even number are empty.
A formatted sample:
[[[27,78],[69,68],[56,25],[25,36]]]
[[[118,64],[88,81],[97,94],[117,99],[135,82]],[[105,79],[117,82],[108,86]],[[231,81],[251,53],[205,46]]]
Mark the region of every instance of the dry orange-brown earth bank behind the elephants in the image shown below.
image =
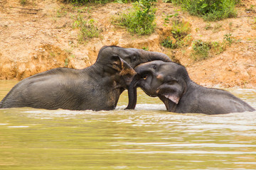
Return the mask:
[[[151,35],[131,35],[112,24],[112,18],[131,8],[131,4],[110,3],[75,7],[58,0],[0,0],[0,79],[24,79],[55,67],[82,69],[93,64],[103,45],[147,48],[164,52],[188,69],[191,79],[203,86],[256,88],[256,1],[242,1],[238,17],[206,22],[190,16],[178,6],[157,3],[156,30]],[[99,38],[78,42],[73,28],[78,11],[93,18],[102,30]],[[175,50],[160,45],[171,35],[167,15],[178,13],[191,25],[190,41]],[[194,61],[192,40],[223,42],[231,33],[234,42],[218,55]]]

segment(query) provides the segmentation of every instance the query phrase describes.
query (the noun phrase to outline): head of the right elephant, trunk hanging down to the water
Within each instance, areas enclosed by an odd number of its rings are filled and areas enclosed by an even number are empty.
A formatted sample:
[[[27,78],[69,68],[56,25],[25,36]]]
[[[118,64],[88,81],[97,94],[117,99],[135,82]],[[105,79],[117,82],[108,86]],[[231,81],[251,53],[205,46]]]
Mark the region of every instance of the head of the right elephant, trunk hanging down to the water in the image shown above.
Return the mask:
[[[151,97],[158,96],[164,102],[166,108],[173,110],[181,99],[181,96],[187,90],[186,79],[189,79],[188,72],[185,67],[174,62],[152,61],[140,64],[135,68],[139,74],[138,78],[132,81],[133,88],[139,86],[147,95]],[[130,86],[131,92],[129,94],[137,101],[134,89]],[[171,102],[171,105],[170,105]],[[135,108],[136,103],[129,103],[128,109]]]

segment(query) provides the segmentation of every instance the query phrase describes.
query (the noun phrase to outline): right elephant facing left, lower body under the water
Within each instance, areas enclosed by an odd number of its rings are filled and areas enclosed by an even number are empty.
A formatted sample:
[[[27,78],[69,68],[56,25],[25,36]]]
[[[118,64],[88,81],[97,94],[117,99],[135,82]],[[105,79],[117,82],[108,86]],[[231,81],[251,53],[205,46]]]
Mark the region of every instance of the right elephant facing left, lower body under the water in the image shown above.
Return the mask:
[[[255,111],[228,91],[199,86],[188,77],[185,67],[174,62],[148,62],[140,64],[135,71],[141,79],[132,84],[149,96],[158,96],[170,112],[211,115]]]

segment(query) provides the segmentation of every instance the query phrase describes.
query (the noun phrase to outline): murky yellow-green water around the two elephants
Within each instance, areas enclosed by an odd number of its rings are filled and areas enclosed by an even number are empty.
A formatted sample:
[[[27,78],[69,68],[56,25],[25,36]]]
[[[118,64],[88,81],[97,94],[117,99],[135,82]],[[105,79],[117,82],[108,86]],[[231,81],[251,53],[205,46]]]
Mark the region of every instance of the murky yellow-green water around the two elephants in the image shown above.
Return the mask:
[[[230,91],[256,108],[255,89]],[[142,91],[125,106],[127,93],[114,111],[0,109],[0,169],[256,169],[256,112],[168,113]]]

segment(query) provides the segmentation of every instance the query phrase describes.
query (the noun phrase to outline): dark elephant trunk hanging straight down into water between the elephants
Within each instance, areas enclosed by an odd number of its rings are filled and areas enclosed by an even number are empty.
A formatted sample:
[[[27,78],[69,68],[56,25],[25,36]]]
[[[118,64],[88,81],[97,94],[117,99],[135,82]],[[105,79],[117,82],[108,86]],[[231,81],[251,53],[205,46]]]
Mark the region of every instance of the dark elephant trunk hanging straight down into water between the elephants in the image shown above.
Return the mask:
[[[128,89],[129,103],[127,108],[125,109],[134,109],[137,104],[137,81],[139,80],[139,78],[140,78],[139,74],[134,76],[134,79],[129,85],[129,89]]]

